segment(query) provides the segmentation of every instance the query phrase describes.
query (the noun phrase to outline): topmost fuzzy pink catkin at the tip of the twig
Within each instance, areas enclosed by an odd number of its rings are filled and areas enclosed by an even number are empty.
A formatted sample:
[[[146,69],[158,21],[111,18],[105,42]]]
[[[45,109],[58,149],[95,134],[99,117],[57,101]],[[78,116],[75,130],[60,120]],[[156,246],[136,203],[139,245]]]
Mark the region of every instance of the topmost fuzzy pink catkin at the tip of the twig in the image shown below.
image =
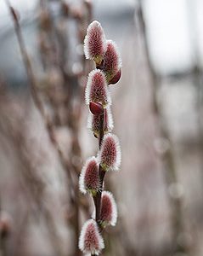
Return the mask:
[[[106,50],[106,39],[104,30],[97,20],[94,20],[87,27],[87,34],[84,39],[84,53],[87,59],[93,60],[96,66],[103,61]]]

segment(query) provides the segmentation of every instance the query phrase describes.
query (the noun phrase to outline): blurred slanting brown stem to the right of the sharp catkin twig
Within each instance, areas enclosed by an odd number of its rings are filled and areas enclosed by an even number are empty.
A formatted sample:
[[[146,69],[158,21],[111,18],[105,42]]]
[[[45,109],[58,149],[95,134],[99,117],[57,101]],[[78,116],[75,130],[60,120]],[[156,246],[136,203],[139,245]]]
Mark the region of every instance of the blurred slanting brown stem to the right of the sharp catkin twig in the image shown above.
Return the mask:
[[[146,27],[144,22],[143,13],[143,3],[138,0],[138,22],[141,37],[144,40],[144,51],[146,55],[146,61],[149,68],[149,74],[151,77],[151,84],[153,86],[152,95],[152,107],[157,118],[158,132],[161,140],[166,140],[169,143],[169,147],[162,154],[162,162],[165,168],[165,180],[166,180],[166,194],[168,195],[168,200],[172,210],[172,252],[171,253],[186,253],[186,247],[183,244],[178,243],[178,237],[183,234],[183,218],[182,218],[182,201],[181,197],[174,197],[169,195],[169,189],[172,185],[178,184],[177,173],[175,169],[174,159],[172,155],[172,142],[170,140],[169,133],[166,129],[166,124],[164,124],[163,118],[161,116],[161,108],[157,101],[157,91],[159,90],[160,79],[155,73],[154,68],[151,65],[149,59],[149,45],[146,35]]]

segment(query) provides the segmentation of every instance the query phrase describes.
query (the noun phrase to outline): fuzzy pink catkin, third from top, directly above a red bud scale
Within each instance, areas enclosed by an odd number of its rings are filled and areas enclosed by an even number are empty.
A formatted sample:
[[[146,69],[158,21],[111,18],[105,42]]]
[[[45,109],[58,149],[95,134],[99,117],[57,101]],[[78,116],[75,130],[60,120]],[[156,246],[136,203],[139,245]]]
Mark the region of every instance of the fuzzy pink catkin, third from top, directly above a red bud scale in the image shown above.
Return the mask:
[[[95,102],[102,104],[103,108],[111,103],[105,75],[102,71],[95,69],[89,73],[85,90],[85,99],[87,105],[90,102]]]

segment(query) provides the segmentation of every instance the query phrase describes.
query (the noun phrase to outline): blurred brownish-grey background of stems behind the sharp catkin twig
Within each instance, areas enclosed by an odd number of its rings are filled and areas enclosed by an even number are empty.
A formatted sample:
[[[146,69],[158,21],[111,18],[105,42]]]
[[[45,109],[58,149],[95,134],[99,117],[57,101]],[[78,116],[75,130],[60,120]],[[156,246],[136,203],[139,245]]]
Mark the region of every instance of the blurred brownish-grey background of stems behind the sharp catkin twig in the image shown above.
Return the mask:
[[[84,102],[91,20],[122,56],[110,88],[121,172],[105,177],[119,217],[102,255],[202,256],[201,0],[0,2],[0,255],[81,255],[93,201],[78,175],[98,150]]]

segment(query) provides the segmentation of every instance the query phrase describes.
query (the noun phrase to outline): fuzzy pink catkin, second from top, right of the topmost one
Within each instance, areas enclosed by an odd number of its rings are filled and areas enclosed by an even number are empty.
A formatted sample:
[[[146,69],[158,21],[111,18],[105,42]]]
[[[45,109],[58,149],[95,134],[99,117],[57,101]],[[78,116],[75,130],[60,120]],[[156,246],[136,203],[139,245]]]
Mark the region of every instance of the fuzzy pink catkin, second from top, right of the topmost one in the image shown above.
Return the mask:
[[[121,69],[121,56],[116,43],[111,40],[107,41],[107,49],[104,55],[104,64],[102,69],[104,70],[108,81],[113,79],[116,73]],[[119,77],[119,73],[117,75]]]

